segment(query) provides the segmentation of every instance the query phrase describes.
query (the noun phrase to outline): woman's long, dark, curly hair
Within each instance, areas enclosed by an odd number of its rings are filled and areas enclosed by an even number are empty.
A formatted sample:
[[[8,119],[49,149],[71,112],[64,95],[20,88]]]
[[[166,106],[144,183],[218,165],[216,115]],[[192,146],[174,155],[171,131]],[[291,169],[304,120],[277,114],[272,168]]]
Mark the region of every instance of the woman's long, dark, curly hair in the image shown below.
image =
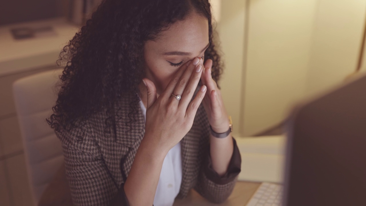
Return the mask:
[[[57,64],[64,61],[66,66],[48,124],[57,132],[70,131],[90,115],[105,111],[105,135],[111,127],[115,129],[113,108],[123,95],[135,97],[130,102],[130,121],[125,124],[136,121],[140,98],[135,94],[141,96],[138,86],[144,74],[144,43],[192,11],[208,19],[210,45],[205,59],[213,60],[212,77],[218,82],[223,64],[213,42],[216,32],[210,7],[208,0],[102,1],[60,53]]]

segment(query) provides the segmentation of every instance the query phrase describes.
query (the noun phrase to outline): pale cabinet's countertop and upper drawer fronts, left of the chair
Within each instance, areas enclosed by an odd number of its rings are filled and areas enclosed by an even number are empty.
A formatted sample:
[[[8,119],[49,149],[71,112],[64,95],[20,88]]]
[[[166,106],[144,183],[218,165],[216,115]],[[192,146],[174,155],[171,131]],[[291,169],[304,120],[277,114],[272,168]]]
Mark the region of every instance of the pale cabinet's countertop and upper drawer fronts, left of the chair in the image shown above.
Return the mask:
[[[52,26],[56,35],[14,40],[10,29],[21,26]],[[22,77],[59,68],[61,49],[77,32],[63,18],[0,27],[0,157],[23,150],[12,83]]]

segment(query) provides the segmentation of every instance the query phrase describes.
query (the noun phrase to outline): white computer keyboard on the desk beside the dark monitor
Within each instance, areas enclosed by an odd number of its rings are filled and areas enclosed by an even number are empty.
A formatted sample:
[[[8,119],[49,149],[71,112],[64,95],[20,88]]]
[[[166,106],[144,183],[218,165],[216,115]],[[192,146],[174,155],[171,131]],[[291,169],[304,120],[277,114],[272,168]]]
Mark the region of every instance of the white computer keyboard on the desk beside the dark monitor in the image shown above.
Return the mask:
[[[282,185],[276,183],[262,183],[246,206],[281,206]]]

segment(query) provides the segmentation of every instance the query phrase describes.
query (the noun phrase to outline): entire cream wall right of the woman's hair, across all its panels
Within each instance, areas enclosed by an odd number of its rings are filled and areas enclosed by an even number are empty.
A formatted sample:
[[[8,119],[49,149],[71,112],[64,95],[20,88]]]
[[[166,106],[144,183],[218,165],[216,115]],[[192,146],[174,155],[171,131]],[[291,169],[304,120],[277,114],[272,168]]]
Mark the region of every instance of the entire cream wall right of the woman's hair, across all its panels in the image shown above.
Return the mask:
[[[250,136],[279,124],[300,99],[354,72],[365,12],[366,0],[222,2],[218,28],[226,70],[221,86],[238,125],[234,135]]]

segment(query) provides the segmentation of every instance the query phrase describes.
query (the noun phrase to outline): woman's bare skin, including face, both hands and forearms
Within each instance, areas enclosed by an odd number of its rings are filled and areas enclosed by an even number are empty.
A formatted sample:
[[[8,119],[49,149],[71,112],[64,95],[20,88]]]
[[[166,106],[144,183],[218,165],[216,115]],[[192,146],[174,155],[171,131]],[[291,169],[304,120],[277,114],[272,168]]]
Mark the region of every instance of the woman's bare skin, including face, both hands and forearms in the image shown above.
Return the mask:
[[[201,102],[214,131],[223,133],[229,128],[220,90],[210,74],[212,60],[202,63],[208,42],[207,19],[191,12],[157,40],[145,43],[146,75],[139,86],[147,109],[145,136],[124,184],[131,206],[153,204],[164,158],[192,127]],[[203,86],[190,103],[200,79]],[[231,134],[223,139],[210,135],[212,166],[219,175],[226,173],[232,152]]]

